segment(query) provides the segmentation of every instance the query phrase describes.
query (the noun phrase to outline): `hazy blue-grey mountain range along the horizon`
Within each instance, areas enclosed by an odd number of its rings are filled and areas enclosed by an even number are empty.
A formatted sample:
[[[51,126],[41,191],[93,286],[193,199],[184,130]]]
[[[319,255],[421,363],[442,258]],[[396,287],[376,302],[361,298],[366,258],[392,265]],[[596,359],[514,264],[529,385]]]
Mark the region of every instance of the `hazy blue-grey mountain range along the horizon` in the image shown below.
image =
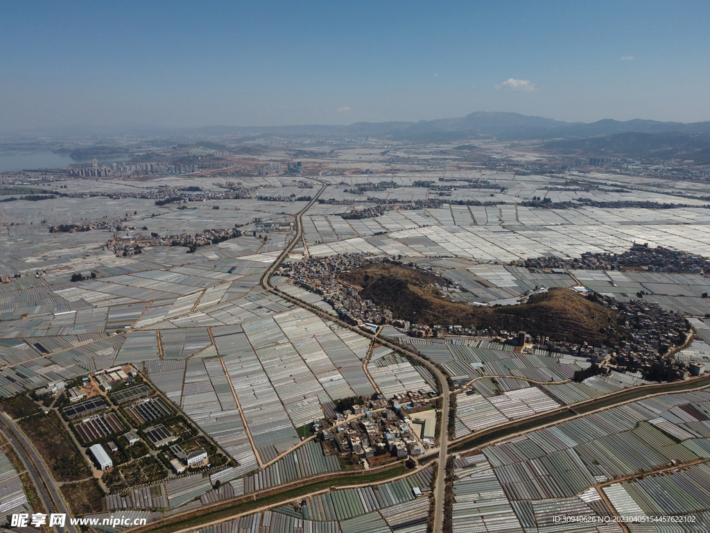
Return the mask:
[[[197,136],[234,135],[244,137],[259,136],[324,136],[362,137],[372,136],[392,140],[447,141],[469,136],[490,135],[499,139],[574,139],[628,132],[663,134],[679,132],[684,134],[710,133],[710,122],[658,122],[634,119],[620,122],[603,119],[597,122],[560,122],[545,117],[506,112],[474,112],[466,117],[454,119],[422,120],[420,122],[356,122],[348,126],[328,126],[311,124],[303,126],[206,126],[202,128],[164,128],[138,124],[120,126],[67,126],[51,128],[53,134],[138,134],[163,136],[166,134],[194,134]],[[10,133],[10,132],[8,132]],[[21,135],[21,132],[16,132]],[[23,132],[28,134],[28,132]]]

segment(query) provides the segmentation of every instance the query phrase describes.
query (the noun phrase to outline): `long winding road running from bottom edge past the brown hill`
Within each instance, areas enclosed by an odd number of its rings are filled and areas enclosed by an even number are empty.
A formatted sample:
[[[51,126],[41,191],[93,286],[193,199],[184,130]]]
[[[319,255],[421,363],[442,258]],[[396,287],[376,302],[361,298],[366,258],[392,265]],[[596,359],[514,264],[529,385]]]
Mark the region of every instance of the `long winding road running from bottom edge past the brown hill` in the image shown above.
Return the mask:
[[[437,482],[435,485],[435,492],[434,492],[434,506],[435,506],[435,511],[434,511],[434,533],[442,533],[442,528],[444,524],[444,480],[446,479],[446,458],[447,458],[447,441],[448,441],[448,436],[449,436],[449,384],[447,383],[446,378],[442,374],[442,372],[439,370],[438,367],[432,364],[432,362],[423,359],[418,355],[414,350],[411,348],[405,348],[400,345],[395,345],[391,343],[389,340],[386,340],[386,338],[382,338],[379,335],[373,335],[372,333],[367,333],[360,328],[356,328],[353,325],[350,325],[339,318],[336,318],[332,315],[329,315],[327,313],[324,313],[322,309],[319,309],[315,306],[310,306],[309,304],[302,302],[300,300],[297,300],[296,298],[293,298],[292,296],[285,294],[281,291],[279,291],[277,288],[271,285],[271,276],[273,275],[274,271],[278,268],[278,266],[283,262],[284,259],[288,257],[288,254],[290,254],[291,250],[295,247],[297,242],[301,240],[301,237],[303,235],[303,225],[302,225],[302,217],[303,213],[307,212],[311,208],[313,204],[315,204],[318,200],[318,197],[323,193],[325,190],[327,184],[324,181],[320,181],[316,178],[310,178],[314,181],[317,181],[320,183],[322,186],[320,190],[318,191],[317,194],[313,196],[313,199],[306,205],[305,208],[300,210],[298,214],[296,215],[296,221],[295,221],[295,229],[296,229],[296,235],[293,238],[293,240],[290,242],[290,244],[284,249],[284,251],[280,254],[278,259],[276,259],[271,266],[266,269],[266,272],[264,272],[264,275],[261,278],[261,284],[266,289],[267,291],[277,294],[281,298],[284,298],[285,300],[288,300],[292,303],[295,303],[297,306],[300,306],[302,308],[306,308],[308,311],[312,311],[316,313],[319,316],[322,316],[322,318],[326,318],[329,321],[336,322],[339,325],[342,325],[344,328],[348,328],[350,330],[355,331],[356,333],[359,333],[360,335],[363,335],[364,337],[370,338],[371,340],[376,340],[378,343],[387,346],[388,348],[391,348],[392,350],[397,350],[398,352],[406,352],[408,357],[411,359],[414,359],[416,362],[418,362],[420,365],[423,365],[424,367],[429,370],[432,375],[437,379],[437,382],[439,382],[439,391],[440,391],[440,396],[442,400],[442,421],[441,421],[441,432],[439,434],[439,468],[437,469]]]

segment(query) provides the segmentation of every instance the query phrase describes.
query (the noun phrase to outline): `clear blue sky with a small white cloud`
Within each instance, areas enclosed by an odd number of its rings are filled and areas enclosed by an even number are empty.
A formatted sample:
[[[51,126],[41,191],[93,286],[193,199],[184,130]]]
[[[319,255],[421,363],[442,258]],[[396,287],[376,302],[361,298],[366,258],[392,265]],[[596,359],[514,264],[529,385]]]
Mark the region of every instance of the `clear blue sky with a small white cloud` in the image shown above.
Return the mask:
[[[4,1],[0,129],[710,120],[707,1]]]

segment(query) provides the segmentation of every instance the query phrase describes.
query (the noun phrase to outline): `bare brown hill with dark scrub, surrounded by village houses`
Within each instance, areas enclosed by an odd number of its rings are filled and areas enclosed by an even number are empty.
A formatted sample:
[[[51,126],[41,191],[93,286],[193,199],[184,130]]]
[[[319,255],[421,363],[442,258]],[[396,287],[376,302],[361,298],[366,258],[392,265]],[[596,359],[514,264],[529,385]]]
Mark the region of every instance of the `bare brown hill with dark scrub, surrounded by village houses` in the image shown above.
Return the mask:
[[[357,289],[361,298],[412,323],[525,330],[533,336],[592,345],[608,345],[623,336],[618,325],[623,319],[616,311],[569,289],[553,288],[518,306],[477,307],[442,298],[432,284],[444,279],[408,266],[368,264],[339,279]]]

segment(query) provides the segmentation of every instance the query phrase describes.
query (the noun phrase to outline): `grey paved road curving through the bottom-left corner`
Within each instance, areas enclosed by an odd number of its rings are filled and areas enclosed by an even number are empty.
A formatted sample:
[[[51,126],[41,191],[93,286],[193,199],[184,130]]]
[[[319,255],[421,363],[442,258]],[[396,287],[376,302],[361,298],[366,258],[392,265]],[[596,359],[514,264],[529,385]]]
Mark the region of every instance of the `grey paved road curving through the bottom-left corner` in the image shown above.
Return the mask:
[[[70,533],[78,533],[76,527],[69,523],[69,511],[62,501],[62,497],[59,494],[59,489],[55,485],[52,476],[47,471],[47,466],[40,458],[40,455],[35,451],[30,444],[30,442],[25,438],[25,436],[19,431],[15,423],[9,419],[4,413],[0,413],[0,431],[4,434],[5,438],[10,442],[11,446],[15,448],[15,451],[23,462],[25,468],[30,474],[37,492],[42,499],[43,505],[47,512],[63,512],[67,515],[67,523],[65,524],[65,529]],[[9,431],[8,431],[9,430]],[[31,461],[28,461],[29,459]],[[49,489],[49,494],[46,489]],[[56,527],[55,529],[58,533],[64,533],[65,529]]]

